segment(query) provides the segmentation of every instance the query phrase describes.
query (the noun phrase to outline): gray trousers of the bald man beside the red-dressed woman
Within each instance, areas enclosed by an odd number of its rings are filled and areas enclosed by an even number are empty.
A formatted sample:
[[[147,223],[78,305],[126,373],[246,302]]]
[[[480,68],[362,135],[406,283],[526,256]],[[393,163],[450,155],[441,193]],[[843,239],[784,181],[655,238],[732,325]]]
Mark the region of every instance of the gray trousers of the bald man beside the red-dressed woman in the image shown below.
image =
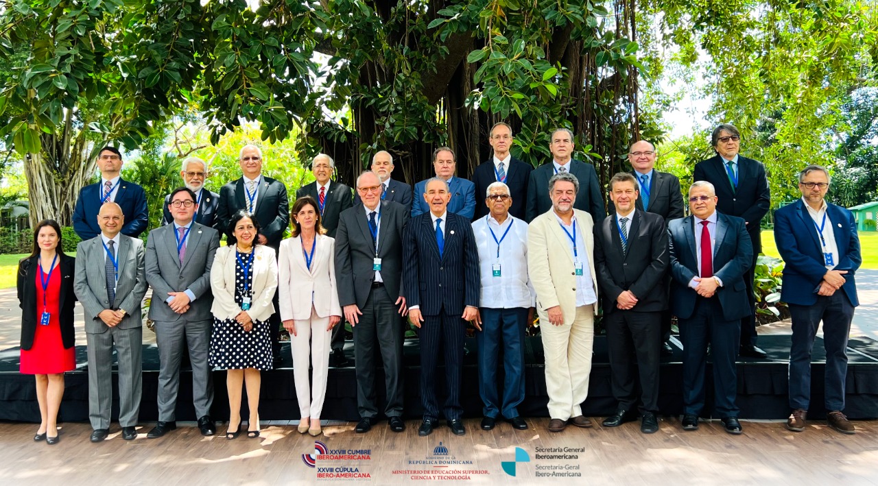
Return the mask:
[[[86,333],[89,354],[89,420],[93,429],[109,429],[112,413],[112,355],[119,361],[119,425],[137,425],[142,393],[143,328],[111,327],[100,334]]]

